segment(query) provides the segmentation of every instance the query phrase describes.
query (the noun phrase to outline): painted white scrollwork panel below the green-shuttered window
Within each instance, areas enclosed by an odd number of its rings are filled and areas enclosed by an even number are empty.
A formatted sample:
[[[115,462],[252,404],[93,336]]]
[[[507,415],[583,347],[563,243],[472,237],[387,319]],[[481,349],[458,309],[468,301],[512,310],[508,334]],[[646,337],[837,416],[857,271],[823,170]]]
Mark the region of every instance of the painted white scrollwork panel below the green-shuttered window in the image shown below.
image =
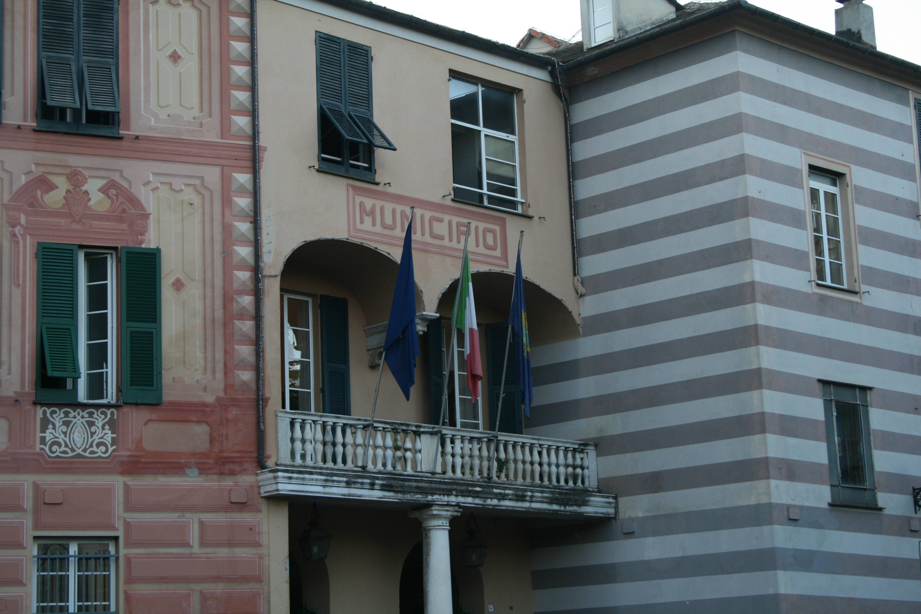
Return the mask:
[[[39,434],[42,452],[54,458],[106,458],[115,449],[114,408],[42,407]]]

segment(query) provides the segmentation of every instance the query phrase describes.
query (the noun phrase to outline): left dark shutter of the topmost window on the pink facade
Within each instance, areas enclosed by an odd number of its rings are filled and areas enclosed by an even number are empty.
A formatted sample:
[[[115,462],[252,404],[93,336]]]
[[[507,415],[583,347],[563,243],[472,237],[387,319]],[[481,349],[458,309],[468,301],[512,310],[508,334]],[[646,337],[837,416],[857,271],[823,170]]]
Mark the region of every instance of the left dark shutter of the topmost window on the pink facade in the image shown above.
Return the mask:
[[[76,0],[40,0],[39,60],[45,104],[79,109],[76,87]]]

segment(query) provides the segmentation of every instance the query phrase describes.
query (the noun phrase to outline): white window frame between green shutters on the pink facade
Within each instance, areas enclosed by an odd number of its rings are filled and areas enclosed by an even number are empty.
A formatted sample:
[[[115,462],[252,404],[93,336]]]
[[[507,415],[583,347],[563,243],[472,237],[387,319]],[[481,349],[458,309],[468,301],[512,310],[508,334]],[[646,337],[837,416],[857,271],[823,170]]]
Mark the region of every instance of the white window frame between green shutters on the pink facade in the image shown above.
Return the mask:
[[[109,342],[109,352],[107,354],[107,368],[104,369],[108,373],[106,379],[106,396],[104,399],[87,399],[87,383],[89,382],[89,347],[87,342],[87,259],[95,256],[106,256],[109,260],[108,262],[108,274],[109,274],[109,293],[108,293],[108,304],[106,311],[109,314],[109,324],[108,324],[108,335],[106,341]],[[77,330],[77,340],[80,356],[80,365],[82,365],[82,373],[79,378],[77,378],[77,399],[81,402],[97,402],[97,403],[112,403],[115,402],[115,381],[118,377],[116,372],[116,320],[118,319],[118,314],[115,312],[115,293],[117,280],[115,277],[115,251],[112,249],[93,249],[93,248],[80,248],[77,250],[77,306],[79,311],[79,320],[76,327]],[[97,312],[94,312],[97,313]],[[95,371],[94,371],[95,373]]]

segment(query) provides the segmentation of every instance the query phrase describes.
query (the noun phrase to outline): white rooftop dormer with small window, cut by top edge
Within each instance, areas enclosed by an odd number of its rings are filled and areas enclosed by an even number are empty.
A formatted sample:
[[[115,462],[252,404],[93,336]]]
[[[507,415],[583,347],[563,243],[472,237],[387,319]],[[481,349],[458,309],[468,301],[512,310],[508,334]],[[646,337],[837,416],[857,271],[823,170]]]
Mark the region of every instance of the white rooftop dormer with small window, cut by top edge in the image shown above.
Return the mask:
[[[617,41],[675,17],[677,0],[581,0],[586,49]]]

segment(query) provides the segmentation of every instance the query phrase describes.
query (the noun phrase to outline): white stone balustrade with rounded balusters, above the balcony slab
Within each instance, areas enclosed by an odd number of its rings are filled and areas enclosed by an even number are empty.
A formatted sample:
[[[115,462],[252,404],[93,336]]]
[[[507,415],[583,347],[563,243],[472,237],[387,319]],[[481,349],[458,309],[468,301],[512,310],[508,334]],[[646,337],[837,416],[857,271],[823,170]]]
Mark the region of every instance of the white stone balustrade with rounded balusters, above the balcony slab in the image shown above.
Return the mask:
[[[277,411],[278,466],[598,490],[594,444]]]

